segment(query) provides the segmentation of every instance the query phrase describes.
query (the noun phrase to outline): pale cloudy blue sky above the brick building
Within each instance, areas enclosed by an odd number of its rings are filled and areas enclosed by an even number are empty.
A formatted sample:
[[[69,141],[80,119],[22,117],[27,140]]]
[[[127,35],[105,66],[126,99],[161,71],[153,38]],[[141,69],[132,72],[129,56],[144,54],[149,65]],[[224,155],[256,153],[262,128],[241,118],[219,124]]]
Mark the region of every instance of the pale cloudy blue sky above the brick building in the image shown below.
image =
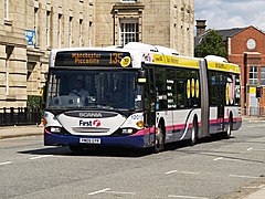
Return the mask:
[[[194,0],[195,20],[205,19],[206,29],[253,25],[265,31],[265,0]]]

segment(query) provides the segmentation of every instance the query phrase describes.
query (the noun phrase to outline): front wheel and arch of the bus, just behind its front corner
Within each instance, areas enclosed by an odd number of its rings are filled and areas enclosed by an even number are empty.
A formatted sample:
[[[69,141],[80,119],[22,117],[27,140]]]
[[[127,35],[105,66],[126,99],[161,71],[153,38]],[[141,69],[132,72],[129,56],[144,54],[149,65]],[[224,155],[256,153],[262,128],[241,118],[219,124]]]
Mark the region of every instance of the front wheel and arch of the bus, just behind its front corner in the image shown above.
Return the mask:
[[[156,140],[153,146],[153,151],[158,154],[159,151],[162,151],[165,148],[165,140],[166,140],[166,126],[165,126],[165,119],[160,118],[158,123],[158,127],[156,129]]]

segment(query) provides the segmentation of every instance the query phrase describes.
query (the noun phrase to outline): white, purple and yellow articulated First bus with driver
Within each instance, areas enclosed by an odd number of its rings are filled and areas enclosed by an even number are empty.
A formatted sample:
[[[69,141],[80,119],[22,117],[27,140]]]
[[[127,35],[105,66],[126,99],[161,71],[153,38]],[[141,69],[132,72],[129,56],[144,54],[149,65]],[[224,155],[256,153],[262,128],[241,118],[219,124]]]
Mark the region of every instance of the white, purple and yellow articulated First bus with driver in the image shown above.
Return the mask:
[[[147,148],[241,127],[240,66],[219,56],[125,46],[52,50],[44,145]],[[75,87],[77,86],[77,87]]]

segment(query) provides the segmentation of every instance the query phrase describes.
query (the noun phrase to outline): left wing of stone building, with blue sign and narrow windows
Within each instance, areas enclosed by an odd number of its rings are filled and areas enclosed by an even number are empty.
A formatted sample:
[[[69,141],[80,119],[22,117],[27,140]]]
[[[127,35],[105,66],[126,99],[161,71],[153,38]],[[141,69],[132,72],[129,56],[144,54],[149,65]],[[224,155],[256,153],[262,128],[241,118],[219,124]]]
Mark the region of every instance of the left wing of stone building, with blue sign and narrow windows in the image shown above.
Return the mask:
[[[40,95],[52,48],[93,45],[92,0],[0,0],[0,107]]]

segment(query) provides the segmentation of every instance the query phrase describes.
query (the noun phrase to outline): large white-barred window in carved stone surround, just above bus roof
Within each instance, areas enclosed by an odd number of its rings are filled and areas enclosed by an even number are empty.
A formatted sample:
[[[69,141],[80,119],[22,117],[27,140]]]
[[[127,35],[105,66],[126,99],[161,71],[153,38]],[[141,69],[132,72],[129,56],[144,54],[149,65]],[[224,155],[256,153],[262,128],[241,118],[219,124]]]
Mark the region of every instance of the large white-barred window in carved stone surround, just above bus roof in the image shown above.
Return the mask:
[[[119,45],[125,45],[128,42],[139,41],[139,21],[120,19],[119,21]]]

